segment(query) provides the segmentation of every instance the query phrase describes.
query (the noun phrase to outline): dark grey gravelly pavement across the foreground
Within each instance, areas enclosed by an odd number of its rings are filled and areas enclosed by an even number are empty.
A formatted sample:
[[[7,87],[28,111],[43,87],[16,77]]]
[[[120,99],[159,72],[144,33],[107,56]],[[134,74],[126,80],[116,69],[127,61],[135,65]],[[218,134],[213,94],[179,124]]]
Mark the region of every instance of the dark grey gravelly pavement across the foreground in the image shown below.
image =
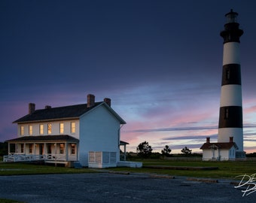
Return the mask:
[[[208,183],[149,174],[47,174],[0,176],[0,198],[38,203],[66,202],[254,202],[230,180]],[[243,188],[245,189],[245,188]]]

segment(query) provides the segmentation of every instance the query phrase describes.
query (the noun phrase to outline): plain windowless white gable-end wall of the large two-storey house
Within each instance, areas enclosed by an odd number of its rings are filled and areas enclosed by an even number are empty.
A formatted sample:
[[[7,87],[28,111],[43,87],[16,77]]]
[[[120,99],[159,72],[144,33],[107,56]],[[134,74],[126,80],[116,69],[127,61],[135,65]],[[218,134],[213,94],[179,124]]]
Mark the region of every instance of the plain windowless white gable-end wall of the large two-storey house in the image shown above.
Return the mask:
[[[101,105],[84,114],[80,118],[80,123],[79,161],[81,165],[88,165],[89,151],[116,152],[118,162],[120,121],[104,105]]]

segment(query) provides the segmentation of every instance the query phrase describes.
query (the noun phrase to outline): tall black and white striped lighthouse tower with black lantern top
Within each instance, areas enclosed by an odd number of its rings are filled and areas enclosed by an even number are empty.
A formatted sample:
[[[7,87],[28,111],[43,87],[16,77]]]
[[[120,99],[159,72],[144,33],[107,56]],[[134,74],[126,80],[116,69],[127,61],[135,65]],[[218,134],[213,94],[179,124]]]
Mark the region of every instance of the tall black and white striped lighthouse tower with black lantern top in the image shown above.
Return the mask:
[[[236,12],[225,15],[227,23],[221,37],[224,39],[221,80],[221,105],[218,123],[218,142],[233,142],[239,148],[236,158],[244,157],[242,133],[242,86],[239,54],[239,38],[243,34],[237,23]]]

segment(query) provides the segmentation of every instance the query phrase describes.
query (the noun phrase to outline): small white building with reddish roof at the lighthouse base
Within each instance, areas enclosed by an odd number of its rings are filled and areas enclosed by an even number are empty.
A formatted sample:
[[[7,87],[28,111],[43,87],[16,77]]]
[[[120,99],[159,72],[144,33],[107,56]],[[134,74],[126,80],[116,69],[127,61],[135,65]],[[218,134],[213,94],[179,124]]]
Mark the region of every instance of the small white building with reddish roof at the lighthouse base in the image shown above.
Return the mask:
[[[210,138],[206,138],[206,143],[200,147],[203,150],[203,161],[227,161],[236,159],[236,150],[238,147],[230,137],[230,142],[210,142]]]

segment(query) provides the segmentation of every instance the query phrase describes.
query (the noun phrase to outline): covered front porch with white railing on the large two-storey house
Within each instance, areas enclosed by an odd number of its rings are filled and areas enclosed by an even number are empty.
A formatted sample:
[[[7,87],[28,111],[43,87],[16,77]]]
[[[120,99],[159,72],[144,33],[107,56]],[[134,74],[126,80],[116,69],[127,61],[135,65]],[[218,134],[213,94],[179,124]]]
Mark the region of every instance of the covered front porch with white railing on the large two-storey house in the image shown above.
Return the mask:
[[[69,165],[77,162],[79,140],[70,135],[24,136],[8,141],[4,162],[44,161]]]

